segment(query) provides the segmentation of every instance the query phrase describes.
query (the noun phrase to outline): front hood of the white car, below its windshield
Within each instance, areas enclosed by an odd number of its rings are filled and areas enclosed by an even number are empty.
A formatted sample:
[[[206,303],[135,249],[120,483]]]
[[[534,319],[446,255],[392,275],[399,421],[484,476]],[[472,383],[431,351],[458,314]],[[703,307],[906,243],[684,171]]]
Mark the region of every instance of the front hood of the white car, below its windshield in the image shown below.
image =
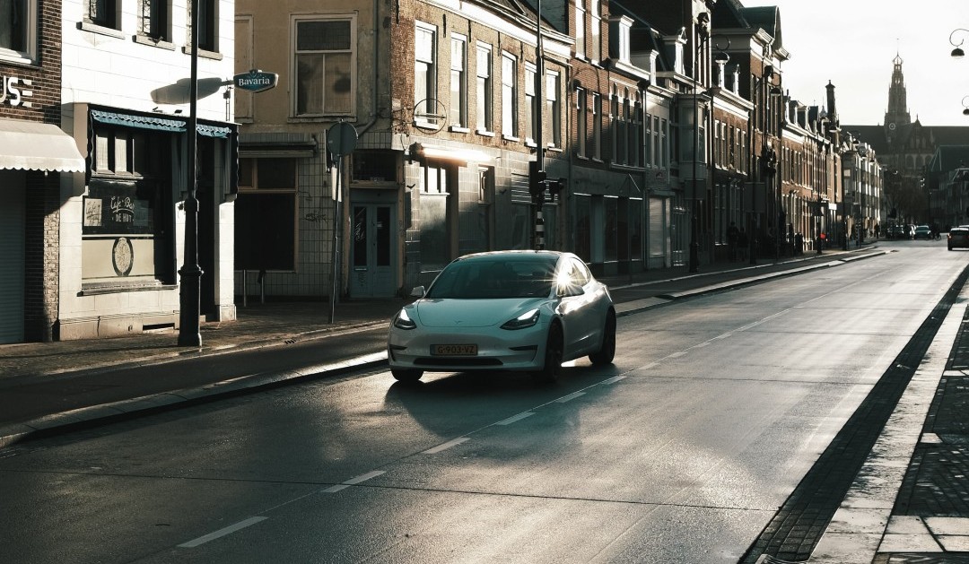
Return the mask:
[[[424,327],[468,328],[501,325],[538,307],[546,298],[421,299],[414,305]]]

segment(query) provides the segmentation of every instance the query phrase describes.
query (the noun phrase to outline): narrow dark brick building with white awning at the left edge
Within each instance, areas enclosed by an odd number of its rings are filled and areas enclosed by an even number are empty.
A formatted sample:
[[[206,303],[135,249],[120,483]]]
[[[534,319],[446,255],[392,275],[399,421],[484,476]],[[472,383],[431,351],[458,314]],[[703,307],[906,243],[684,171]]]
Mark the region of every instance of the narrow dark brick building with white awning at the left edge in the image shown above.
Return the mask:
[[[47,341],[58,309],[60,184],[84,170],[58,126],[61,2],[0,14],[0,343]]]

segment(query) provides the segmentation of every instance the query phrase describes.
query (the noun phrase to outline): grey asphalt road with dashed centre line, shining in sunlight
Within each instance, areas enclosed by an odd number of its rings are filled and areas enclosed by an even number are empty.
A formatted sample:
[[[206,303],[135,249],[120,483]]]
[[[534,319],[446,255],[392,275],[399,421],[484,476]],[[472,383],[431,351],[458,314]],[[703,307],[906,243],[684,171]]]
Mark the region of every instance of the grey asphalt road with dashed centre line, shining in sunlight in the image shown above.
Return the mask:
[[[614,365],[550,387],[376,371],[32,442],[0,553],[735,563],[963,266],[913,244],[622,317]]]

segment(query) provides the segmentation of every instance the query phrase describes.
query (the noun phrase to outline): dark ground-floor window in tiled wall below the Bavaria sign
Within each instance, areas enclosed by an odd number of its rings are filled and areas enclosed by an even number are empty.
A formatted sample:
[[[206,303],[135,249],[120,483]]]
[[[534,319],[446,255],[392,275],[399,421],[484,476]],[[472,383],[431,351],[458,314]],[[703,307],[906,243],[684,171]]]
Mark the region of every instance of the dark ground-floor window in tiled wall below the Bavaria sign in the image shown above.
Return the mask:
[[[296,270],[297,160],[239,159],[235,267]]]

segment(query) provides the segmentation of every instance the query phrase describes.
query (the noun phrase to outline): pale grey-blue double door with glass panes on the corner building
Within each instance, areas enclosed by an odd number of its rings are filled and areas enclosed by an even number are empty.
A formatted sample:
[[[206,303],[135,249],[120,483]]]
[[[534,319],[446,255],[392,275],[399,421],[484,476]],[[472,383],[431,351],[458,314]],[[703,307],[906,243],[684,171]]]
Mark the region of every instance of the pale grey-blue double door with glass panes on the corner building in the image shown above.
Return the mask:
[[[350,297],[391,298],[394,283],[393,205],[354,204]]]

